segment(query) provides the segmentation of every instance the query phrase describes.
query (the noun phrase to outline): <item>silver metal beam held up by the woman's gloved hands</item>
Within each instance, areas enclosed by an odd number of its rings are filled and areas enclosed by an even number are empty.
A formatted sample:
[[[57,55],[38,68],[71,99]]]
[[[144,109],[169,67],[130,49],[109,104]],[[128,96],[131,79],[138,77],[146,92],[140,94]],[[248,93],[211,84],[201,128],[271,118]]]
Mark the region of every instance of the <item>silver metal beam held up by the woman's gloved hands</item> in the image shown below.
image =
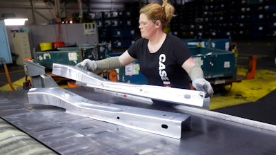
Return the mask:
[[[92,72],[81,70],[71,65],[53,63],[52,74],[81,81],[83,86],[95,87],[102,90],[142,96],[149,99],[168,101],[170,103],[184,104],[209,108],[210,98],[205,98],[205,92],[196,90],[184,90],[173,87],[160,87],[155,85],[137,85],[108,81]]]

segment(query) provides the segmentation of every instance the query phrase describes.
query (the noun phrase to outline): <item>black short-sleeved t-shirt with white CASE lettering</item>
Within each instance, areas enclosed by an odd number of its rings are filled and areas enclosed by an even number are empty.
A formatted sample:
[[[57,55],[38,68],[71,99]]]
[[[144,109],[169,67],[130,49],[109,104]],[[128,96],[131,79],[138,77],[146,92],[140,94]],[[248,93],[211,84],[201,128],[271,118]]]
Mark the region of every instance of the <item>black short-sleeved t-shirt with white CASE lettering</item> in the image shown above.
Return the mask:
[[[141,73],[148,85],[190,89],[188,73],[181,65],[190,57],[190,52],[181,39],[167,34],[161,48],[150,53],[148,39],[138,39],[128,48],[128,53],[139,60]]]

